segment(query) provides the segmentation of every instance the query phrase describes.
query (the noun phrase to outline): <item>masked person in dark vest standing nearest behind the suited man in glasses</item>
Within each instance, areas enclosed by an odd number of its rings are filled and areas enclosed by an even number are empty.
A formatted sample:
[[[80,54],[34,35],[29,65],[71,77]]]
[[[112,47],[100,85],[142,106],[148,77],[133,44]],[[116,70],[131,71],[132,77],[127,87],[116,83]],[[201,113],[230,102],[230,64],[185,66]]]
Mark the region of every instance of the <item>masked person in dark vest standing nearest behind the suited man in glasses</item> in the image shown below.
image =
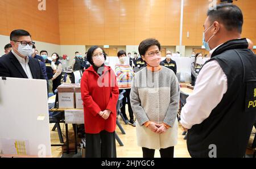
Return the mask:
[[[46,74],[48,79],[48,93],[53,93],[52,91],[52,77],[53,74],[56,72],[57,67],[55,66],[54,62],[50,61],[48,58],[48,52],[46,50],[40,51],[40,56],[43,57],[44,62],[46,63]],[[52,60],[52,58],[51,58]]]

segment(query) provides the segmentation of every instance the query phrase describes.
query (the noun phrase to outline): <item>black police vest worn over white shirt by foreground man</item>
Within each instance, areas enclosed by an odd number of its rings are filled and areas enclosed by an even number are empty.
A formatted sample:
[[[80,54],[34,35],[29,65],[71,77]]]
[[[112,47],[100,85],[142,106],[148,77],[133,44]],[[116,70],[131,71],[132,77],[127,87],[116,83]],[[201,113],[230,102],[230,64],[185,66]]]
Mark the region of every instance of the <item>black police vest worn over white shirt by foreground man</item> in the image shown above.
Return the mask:
[[[228,90],[210,116],[188,130],[191,157],[209,157],[212,145],[217,157],[245,155],[256,120],[256,57],[247,47],[246,39],[230,40],[213,52],[209,61],[220,64]]]

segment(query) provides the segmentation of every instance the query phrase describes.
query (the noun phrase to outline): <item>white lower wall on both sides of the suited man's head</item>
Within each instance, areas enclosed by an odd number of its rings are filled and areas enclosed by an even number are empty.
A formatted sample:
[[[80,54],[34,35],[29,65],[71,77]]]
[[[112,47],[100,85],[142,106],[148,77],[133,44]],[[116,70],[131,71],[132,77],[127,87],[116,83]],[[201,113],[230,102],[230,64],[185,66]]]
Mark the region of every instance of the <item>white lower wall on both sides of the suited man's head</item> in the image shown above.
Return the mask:
[[[0,35],[0,56],[5,54],[5,45],[10,43],[9,36]],[[51,55],[52,53],[56,52],[60,54],[60,45],[50,44],[50,43],[43,43],[40,41],[35,41],[36,49],[40,52],[40,50],[47,50],[48,54]]]

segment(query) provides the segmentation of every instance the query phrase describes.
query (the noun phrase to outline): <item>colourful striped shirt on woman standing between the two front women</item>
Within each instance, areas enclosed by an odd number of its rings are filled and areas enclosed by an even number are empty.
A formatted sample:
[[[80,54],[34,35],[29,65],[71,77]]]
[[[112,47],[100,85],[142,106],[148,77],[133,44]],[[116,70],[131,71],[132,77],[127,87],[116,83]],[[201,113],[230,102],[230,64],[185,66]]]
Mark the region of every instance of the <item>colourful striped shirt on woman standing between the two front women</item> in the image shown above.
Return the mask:
[[[131,88],[131,81],[134,77],[134,71],[130,65],[115,65],[115,74],[119,89]]]

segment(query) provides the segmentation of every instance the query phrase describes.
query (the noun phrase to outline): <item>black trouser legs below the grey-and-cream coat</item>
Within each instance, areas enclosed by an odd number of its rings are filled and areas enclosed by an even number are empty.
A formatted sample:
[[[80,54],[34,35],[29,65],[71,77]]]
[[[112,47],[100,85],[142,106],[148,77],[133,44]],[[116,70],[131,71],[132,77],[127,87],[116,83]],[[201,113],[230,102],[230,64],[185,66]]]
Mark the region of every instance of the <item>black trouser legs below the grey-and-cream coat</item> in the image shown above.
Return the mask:
[[[168,147],[166,149],[160,149],[161,158],[174,158],[174,147]],[[155,157],[155,150],[154,149],[147,149],[142,147],[143,158],[154,158]]]

